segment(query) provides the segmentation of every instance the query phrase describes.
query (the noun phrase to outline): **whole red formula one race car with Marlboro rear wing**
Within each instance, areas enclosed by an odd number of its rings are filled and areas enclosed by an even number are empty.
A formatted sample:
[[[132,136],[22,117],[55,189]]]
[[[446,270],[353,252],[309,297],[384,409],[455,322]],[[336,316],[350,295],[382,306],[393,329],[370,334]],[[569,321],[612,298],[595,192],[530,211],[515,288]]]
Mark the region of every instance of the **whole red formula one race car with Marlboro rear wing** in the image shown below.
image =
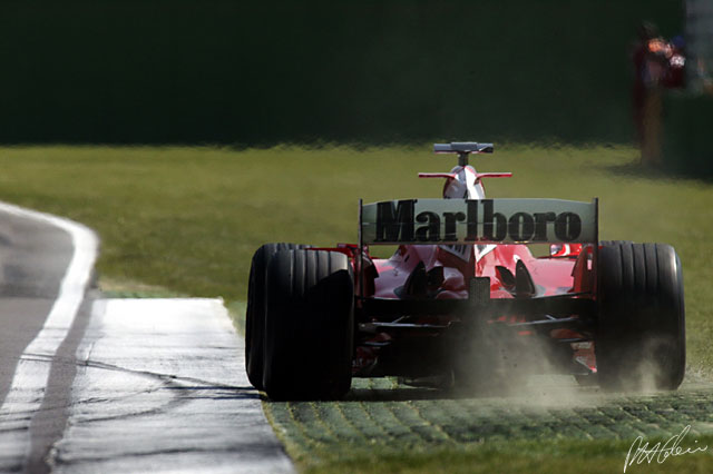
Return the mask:
[[[343,397],[352,377],[484,388],[546,368],[607,389],[675,389],[685,369],[681,261],[664,244],[598,240],[598,204],[486,199],[470,154],[443,199],[359,204],[359,244],[266,244],[245,332],[251,383],[273,399]],[[547,244],[535,257],[529,244]],[[370,245],[398,245],[389,259]],[[541,247],[541,246],[540,246]],[[547,254],[547,253],[546,253]],[[647,384],[645,384],[647,382]]]

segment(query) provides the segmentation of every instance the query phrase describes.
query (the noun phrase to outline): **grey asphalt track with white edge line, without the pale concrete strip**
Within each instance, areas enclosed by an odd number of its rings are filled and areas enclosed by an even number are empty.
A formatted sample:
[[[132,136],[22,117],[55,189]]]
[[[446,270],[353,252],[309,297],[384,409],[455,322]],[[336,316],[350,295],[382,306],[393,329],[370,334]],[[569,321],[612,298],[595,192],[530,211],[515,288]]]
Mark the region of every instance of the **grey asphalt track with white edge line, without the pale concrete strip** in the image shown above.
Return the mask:
[[[52,216],[0,205],[0,470],[46,472],[65,426],[94,234]],[[77,236],[89,241],[76,253]],[[84,240],[81,243],[84,245]],[[84,254],[84,253],[82,253]],[[77,266],[79,265],[79,266]]]

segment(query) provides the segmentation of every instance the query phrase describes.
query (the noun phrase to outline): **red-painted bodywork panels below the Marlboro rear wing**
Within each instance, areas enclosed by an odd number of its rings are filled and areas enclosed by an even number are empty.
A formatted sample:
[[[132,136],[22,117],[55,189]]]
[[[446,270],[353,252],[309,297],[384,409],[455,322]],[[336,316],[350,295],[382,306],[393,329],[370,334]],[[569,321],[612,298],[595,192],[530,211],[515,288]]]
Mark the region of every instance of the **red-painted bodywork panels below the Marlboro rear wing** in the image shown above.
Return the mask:
[[[330,250],[346,254],[352,259],[353,268],[363,274],[362,278],[355,278],[355,293],[367,299],[373,297],[401,300],[404,298],[400,289],[404,288],[407,280],[421,263],[427,275],[432,274],[434,269],[439,274],[442,271],[442,279],[439,278],[438,285],[429,288],[428,292],[429,298],[437,300],[466,300],[469,296],[467,282],[471,277],[489,277],[491,299],[539,298],[557,295],[572,295],[576,298],[583,294],[593,295],[594,282],[596,282],[592,264],[593,248],[592,246],[579,244],[553,246],[550,255],[546,257],[535,257],[526,245],[473,245],[470,246],[470,250],[466,250],[466,254],[470,254],[468,259],[455,255],[453,249],[449,246],[402,245],[388,259],[372,259],[369,256],[369,249],[365,248],[362,254],[361,269],[356,264],[358,248],[359,246],[356,245],[343,244],[336,248],[330,248]],[[531,276],[536,294],[518,295],[517,288],[504,276],[501,268],[506,268],[511,275],[516,275],[518,261],[527,268]],[[358,297],[358,313],[361,307],[359,303]],[[397,317],[395,320],[403,320],[407,316],[402,315]],[[421,327],[448,327],[450,324],[461,319],[461,316],[450,314],[420,315],[408,318],[409,324]],[[494,325],[517,325],[528,320],[524,315],[495,314],[488,323]],[[383,318],[369,317],[369,315],[362,313],[361,318],[358,317],[358,322],[360,327],[363,327],[370,323],[383,323]],[[381,347],[391,343],[394,338],[423,336],[423,330],[414,330],[413,333],[397,330],[394,334],[390,329],[392,328],[384,327],[382,332],[362,334],[361,344],[358,340],[355,349],[354,376],[374,375],[373,369],[377,366]],[[434,330],[428,335],[433,337],[437,333],[438,330]],[[517,337],[526,338],[537,334],[524,328],[522,330],[517,330],[516,335]],[[570,362],[573,363],[574,373],[577,373],[577,367],[580,375],[596,373],[594,343],[587,340],[588,337],[578,330],[560,327],[553,328],[547,333],[547,336],[551,339],[573,340],[570,343]]]

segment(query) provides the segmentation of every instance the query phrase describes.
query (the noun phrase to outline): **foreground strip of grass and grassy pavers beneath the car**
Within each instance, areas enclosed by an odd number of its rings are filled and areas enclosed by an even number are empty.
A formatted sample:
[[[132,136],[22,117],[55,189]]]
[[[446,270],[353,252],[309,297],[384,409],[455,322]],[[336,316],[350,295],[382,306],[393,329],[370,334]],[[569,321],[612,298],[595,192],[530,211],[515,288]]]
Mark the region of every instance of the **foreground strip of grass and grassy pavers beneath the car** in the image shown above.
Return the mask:
[[[653,447],[686,425],[682,448],[713,446],[710,384],[606,395],[574,381],[540,381],[507,398],[452,397],[394,379],[358,378],[353,388],[342,402],[265,404],[305,472],[621,472],[637,436]],[[710,472],[711,465],[713,450],[627,472]]]

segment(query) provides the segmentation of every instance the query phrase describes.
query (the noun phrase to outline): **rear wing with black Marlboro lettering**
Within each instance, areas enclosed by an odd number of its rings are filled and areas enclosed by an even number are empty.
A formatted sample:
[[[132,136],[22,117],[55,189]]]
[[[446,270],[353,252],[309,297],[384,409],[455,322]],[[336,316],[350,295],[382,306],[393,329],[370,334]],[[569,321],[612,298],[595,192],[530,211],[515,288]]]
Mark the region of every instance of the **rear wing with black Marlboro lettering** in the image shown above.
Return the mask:
[[[598,241],[598,200],[402,199],[359,203],[360,245]]]

